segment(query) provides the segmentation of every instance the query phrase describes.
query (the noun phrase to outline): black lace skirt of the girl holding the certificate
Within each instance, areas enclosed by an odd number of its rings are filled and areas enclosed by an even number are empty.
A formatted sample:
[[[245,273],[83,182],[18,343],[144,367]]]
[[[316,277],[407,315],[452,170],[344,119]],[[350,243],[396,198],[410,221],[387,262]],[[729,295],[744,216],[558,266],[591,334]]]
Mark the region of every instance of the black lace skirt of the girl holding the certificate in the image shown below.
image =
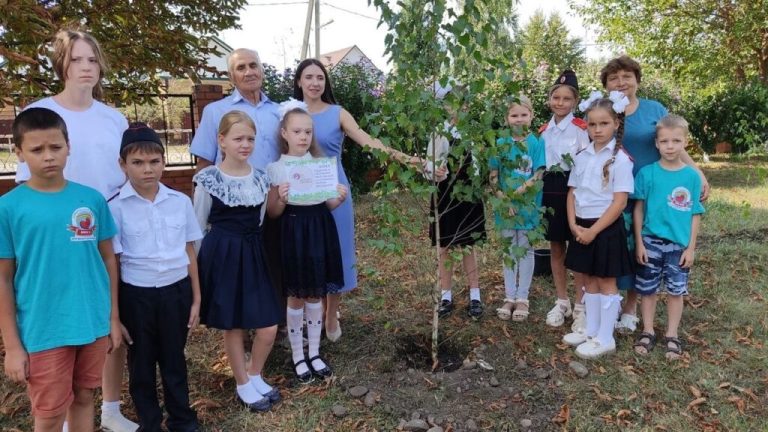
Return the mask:
[[[288,205],[280,218],[283,292],[317,298],[344,287],[336,222],[325,203]]]

